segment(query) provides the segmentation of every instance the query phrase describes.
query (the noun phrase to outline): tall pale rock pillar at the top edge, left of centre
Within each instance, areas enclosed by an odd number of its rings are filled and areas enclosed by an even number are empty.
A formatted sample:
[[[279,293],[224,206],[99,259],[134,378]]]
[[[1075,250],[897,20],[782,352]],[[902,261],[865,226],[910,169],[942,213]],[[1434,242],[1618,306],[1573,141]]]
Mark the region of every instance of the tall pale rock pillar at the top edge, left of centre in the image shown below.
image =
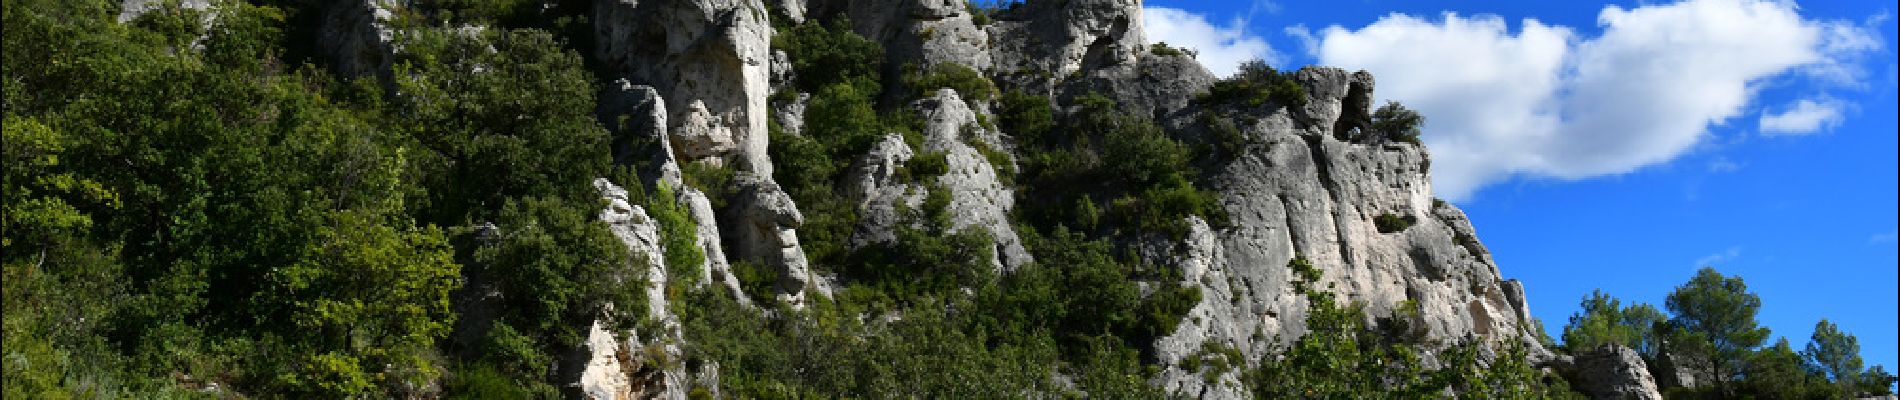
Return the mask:
[[[674,150],[771,176],[771,23],[760,0],[598,0],[595,55],[673,108]]]

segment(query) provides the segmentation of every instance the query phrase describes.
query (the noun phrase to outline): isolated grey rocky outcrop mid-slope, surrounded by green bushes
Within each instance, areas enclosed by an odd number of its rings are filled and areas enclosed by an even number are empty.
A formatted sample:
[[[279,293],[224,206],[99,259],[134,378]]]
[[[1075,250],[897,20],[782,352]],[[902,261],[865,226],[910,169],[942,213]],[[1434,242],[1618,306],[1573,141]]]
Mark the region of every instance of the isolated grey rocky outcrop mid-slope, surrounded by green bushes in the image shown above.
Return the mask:
[[[899,205],[918,207],[929,190],[946,190],[952,231],[988,231],[996,245],[990,264],[998,269],[1028,264],[1030,252],[1009,224],[1009,210],[1016,203],[1015,190],[1005,186],[996,165],[971,146],[977,142],[999,148],[1001,144],[992,142],[996,135],[984,135],[988,129],[977,123],[977,112],[952,89],[939,89],[935,97],[912,106],[923,118],[922,152],[944,154],[948,173],[937,176],[931,186],[904,182],[897,171],[916,155],[910,144],[899,135],[887,135],[872,146],[846,178],[863,212],[853,246],[895,241],[897,226],[904,224],[897,212]]]

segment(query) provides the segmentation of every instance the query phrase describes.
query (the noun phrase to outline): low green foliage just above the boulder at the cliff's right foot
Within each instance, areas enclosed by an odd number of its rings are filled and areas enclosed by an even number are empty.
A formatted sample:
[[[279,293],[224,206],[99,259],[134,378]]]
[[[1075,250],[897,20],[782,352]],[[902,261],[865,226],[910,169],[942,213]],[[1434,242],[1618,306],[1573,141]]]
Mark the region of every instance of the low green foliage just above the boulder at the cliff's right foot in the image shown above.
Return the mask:
[[[1590,290],[1564,324],[1564,347],[1569,351],[1590,351],[1600,345],[1623,345],[1634,349],[1644,360],[1655,362],[1662,337],[1655,328],[1666,318],[1655,305],[1623,301]]]

